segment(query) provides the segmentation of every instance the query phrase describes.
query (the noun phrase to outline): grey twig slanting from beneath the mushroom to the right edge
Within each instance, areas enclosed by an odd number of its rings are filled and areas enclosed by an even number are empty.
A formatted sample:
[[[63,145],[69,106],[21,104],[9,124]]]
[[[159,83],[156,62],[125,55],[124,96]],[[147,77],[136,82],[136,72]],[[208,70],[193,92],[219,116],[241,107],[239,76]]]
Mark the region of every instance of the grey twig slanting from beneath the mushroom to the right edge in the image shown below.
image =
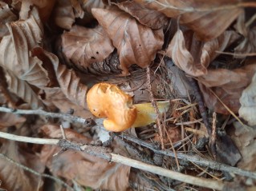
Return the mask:
[[[163,155],[169,156],[169,157],[175,157],[174,153],[170,150],[159,150],[156,147],[154,147],[153,145],[151,145],[145,141],[141,141],[135,137],[130,137],[126,134],[123,134],[122,137],[124,137],[125,139],[127,139],[129,141],[135,142],[138,145],[142,145],[148,149],[151,149],[154,153],[163,154]],[[245,176],[245,177],[250,177],[250,178],[256,179],[255,172],[250,172],[250,171],[247,171],[244,169],[238,169],[238,168],[230,166],[230,165],[224,165],[217,161],[209,161],[202,157],[197,157],[194,155],[187,155],[184,153],[177,153],[177,158],[184,160],[184,161],[193,162],[197,165],[207,166],[210,169],[221,170],[221,171],[224,171],[227,173],[234,173],[234,174],[238,174],[240,176]]]

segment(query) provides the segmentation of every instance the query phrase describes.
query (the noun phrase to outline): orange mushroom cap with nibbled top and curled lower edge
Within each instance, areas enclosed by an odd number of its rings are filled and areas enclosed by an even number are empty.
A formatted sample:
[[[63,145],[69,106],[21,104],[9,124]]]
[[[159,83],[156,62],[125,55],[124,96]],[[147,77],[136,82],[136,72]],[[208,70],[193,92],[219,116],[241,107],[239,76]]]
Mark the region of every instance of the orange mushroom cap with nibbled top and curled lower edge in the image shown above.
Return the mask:
[[[87,105],[96,117],[108,117],[104,120],[104,128],[109,131],[124,131],[136,120],[132,97],[115,85],[100,83],[92,86],[87,94]]]

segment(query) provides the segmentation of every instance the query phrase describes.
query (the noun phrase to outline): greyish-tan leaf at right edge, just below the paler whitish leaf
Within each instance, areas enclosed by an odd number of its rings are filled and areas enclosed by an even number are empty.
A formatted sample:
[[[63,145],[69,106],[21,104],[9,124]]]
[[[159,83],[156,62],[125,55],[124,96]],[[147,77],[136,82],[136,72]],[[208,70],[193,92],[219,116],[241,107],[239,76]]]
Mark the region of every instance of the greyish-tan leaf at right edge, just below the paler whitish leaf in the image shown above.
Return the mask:
[[[256,130],[247,125],[234,122],[234,133],[231,136],[242,154],[242,160],[238,162],[238,168],[250,171],[256,170]]]

